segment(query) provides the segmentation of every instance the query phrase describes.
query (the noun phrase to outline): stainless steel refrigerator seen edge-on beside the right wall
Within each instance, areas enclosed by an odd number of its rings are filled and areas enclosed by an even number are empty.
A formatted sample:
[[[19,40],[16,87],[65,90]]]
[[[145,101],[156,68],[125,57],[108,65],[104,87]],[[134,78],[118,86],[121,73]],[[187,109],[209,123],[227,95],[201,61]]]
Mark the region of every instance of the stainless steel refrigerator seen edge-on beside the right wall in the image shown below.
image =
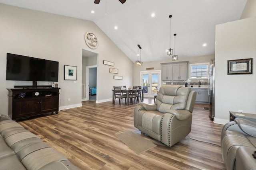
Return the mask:
[[[208,75],[208,96],[210,97],[210,114],[211,120],[214,118],[214,94],[215,94],[215,60],[212,59],[212,64],[210,65],[210,73]]]

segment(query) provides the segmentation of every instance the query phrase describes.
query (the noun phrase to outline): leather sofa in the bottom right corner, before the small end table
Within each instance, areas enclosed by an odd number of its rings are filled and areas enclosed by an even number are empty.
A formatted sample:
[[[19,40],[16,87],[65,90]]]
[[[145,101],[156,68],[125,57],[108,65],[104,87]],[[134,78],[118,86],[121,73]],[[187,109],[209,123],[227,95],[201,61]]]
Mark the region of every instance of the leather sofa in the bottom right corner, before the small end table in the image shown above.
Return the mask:
[[[227,170],[256,170],[256,122],[236,117],[221,134],[222,159]]]

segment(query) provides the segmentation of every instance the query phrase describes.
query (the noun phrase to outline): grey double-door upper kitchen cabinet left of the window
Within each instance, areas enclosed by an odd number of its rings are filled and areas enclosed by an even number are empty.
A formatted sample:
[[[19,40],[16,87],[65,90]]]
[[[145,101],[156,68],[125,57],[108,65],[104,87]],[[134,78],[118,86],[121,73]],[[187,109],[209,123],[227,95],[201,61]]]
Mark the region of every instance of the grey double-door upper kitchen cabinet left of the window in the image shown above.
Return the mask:
[[[162,80],[187,80],[188,61],[161,63]]]

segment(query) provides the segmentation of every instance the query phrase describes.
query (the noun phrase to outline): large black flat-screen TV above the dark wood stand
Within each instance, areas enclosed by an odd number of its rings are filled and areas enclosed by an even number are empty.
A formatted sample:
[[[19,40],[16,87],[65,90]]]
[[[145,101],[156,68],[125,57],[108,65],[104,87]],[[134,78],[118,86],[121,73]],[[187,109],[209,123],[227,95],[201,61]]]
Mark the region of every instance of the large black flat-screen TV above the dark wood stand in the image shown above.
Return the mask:
[[[7,53],[6,80],[58,82],[59,62]]]

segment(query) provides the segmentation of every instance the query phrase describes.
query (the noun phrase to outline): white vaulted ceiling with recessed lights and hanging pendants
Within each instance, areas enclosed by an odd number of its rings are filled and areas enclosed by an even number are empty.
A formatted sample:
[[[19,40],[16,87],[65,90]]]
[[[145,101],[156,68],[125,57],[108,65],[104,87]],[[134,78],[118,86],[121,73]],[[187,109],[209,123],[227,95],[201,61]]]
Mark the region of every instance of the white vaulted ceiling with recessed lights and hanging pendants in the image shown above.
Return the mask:
[[[3,4],[93,21],[133,62],[137,60],[137,44],[142,47],[143,62],[169,59],[166,49],[170,35],[174,49],[174,33],[178,57],[214,54],[215,25],[239,20],[246,2],[126,0],[122,4],[101,0],[94,4],[94,0],[0,0]]]

